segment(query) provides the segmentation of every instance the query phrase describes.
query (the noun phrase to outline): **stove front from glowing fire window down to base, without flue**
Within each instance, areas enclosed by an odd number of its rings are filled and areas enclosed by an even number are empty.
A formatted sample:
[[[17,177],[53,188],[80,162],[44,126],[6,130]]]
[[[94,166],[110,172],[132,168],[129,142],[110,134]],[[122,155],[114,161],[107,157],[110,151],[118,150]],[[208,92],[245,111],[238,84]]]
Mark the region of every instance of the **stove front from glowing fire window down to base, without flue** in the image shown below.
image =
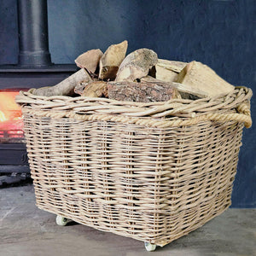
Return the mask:
[[[0,90],[0,186],[20,182],[29,172],[21,109],[15,103],[20,90],[26,89]]]

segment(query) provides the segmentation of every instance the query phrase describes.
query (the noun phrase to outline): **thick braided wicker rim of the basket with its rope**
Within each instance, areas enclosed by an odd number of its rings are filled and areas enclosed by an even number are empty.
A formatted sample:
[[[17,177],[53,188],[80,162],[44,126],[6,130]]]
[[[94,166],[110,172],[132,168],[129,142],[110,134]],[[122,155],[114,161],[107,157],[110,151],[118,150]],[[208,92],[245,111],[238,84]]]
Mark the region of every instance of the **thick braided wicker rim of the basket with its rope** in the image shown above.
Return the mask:
[[[227,95],[198,100],[172,99],[168,102],[121,102],[88,96],[35,96],[20,91],[16,102],[22,111],[54,118],[102,119],[153,125],[194,125],[201,120],[229,121],[252,125],[250,99],[253,91],[237,86]],[[149,118],[149,119],[148,119]],[[134,119],[137,119],[135,121]],[[171,122],[171,123],[170,123]],[[160,126],[161,126],[160,125]],[[153,125],[155,126],[155,125]]]

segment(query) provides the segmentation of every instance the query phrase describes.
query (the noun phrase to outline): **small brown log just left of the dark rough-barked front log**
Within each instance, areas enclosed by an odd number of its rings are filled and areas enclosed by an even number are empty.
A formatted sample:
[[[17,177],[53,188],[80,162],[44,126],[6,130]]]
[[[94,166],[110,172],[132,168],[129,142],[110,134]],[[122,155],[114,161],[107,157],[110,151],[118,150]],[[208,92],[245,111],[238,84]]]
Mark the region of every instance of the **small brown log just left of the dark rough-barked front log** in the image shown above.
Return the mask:
[[[108,84],[104,81],[93,81],[89,83],[80,83],[80,87],[75,88],[75,92],[81,96],[89,97],[108,97]],[[82,89],[82,87],[84,88]]]

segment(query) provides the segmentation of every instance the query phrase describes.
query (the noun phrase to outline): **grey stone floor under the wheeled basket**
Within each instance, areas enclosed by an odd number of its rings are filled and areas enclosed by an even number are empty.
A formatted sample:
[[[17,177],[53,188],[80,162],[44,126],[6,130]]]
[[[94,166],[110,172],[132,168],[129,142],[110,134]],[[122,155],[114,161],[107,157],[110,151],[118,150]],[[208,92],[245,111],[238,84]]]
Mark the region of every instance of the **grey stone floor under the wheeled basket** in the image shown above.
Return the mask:
[[[35,206],[32,185],[0,189],[1,256],[256,255],[256,209],[229,209],[177,241],[146,252],[143,242],[82,224],[55,224]]]

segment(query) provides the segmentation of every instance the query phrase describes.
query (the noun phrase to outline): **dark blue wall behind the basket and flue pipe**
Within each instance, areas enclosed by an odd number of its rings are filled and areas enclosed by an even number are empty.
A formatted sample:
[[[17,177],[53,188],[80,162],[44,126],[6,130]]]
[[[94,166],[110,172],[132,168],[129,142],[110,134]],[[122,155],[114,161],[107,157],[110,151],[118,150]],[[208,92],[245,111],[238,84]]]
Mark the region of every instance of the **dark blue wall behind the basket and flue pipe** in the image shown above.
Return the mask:
[[[0,0],[0,64],[17,61],[15,0]],[[235,85],[256,91],[254,0],[49,0],[49,49],[73,63],[88,49],[129,41],[160,58],[201,61]],[[255,98],[252,99],[255,119]],[[256,129],[244,131],[233,207],[256,207]]]

